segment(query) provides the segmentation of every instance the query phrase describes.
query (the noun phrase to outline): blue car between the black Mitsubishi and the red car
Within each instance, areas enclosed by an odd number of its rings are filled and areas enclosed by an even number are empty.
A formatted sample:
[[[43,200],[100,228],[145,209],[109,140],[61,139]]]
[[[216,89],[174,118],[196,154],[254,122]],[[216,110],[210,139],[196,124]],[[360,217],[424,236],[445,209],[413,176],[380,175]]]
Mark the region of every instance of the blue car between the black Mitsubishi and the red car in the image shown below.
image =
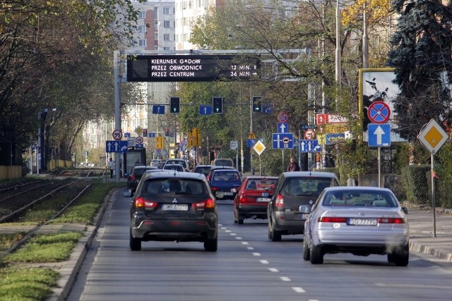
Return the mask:
[[[232,167],[213,167],[207,175],[207,180],[215,199],[234,199],[237,188],[242,184],[239,171]],[[232,192],[233,188],[236,188],[236,192]]]

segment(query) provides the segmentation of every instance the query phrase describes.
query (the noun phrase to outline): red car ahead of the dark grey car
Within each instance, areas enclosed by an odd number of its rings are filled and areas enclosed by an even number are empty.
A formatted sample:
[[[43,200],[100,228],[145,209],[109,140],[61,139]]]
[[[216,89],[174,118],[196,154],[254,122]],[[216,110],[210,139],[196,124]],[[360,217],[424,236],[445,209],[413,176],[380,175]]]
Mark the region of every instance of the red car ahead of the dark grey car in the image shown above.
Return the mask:
[[[242,225],[244,219],[266,219],[267,206],[273,195],[278,177],[248,176],[242,181],[234,197],[234,223]],[[233,191],[235,192],[235,191]]]

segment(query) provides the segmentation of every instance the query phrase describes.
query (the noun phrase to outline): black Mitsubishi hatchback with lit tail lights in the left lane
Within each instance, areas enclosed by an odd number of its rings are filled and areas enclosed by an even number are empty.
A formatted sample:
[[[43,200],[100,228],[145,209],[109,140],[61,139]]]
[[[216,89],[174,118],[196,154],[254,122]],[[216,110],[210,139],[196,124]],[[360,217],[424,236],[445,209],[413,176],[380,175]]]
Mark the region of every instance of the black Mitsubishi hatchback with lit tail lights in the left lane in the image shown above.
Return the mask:
[[[218,210],[205,176],[145,173],[131,200],[131,250],[141,250],[143,241],[198,241],[217,251]]]

